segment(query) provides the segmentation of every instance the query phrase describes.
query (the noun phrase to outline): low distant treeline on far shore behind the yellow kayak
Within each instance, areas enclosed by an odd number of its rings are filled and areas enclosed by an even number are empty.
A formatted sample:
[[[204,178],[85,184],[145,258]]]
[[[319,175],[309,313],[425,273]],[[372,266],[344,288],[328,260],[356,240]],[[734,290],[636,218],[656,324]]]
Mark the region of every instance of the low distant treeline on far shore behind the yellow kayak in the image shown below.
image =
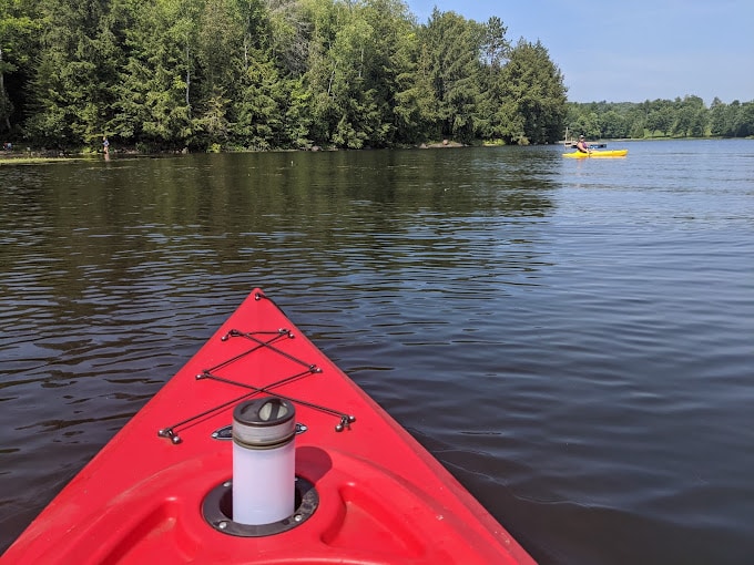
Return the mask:
[[[710,107],[699,96],[633,102],[568,103],[566,125],[571,135],[588,138],[748,137],[754,136],[754,101]]]

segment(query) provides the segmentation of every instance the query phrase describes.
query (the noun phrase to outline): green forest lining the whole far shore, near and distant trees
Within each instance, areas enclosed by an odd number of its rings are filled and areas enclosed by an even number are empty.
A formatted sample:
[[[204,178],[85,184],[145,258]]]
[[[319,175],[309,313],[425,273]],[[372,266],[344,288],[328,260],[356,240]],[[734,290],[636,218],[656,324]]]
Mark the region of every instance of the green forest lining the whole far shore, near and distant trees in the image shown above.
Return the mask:
[[[0,135],[37,147],[742,136],[752,106],[569,104],[541,42],[401,0],[0,0]]]

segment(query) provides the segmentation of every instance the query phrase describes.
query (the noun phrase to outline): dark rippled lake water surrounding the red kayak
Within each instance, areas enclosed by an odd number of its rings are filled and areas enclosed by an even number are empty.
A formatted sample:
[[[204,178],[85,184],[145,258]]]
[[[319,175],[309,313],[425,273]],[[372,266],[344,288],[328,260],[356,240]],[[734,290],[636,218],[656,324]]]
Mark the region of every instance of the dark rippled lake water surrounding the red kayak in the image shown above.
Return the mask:
[[[540,563],[754,563],[754,141],[619,147],[0,167],[0,551],[261,286]]]

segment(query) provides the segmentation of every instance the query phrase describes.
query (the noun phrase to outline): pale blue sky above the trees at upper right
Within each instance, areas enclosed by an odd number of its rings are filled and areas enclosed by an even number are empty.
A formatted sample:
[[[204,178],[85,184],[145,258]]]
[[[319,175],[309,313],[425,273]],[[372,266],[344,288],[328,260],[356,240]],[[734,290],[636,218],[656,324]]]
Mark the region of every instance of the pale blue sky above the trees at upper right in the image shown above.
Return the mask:
[[[572,102],[696,95],[754,101],[753,0],[406,0],[419,23],[437,8],[486,22],[516,43],[540,40]]]

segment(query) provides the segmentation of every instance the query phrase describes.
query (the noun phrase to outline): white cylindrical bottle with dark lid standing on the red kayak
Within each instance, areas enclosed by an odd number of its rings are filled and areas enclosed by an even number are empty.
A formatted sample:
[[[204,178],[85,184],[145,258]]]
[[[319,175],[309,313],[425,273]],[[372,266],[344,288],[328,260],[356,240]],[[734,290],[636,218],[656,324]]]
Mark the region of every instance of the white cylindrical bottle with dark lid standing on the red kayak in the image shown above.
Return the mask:
[[[249,400],[233,411],[233,521],[263,525],[295,508],[296,410],[277,397]]]

